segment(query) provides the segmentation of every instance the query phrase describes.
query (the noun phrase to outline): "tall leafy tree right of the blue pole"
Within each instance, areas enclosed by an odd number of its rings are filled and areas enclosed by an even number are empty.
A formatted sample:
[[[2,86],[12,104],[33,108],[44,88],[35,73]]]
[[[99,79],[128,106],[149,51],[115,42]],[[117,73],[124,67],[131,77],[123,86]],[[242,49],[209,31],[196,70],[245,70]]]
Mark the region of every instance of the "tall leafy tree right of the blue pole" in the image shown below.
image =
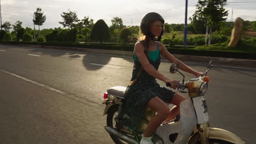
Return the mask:
[[[207,20],[206,23],[206,40],[208,38],[208,27],[210,27],[209,45],[211,44],[212,26],[219,25],[226,20],[228,11],[224,9],[227,0],[199,0],[196,4],[195,15]]]

